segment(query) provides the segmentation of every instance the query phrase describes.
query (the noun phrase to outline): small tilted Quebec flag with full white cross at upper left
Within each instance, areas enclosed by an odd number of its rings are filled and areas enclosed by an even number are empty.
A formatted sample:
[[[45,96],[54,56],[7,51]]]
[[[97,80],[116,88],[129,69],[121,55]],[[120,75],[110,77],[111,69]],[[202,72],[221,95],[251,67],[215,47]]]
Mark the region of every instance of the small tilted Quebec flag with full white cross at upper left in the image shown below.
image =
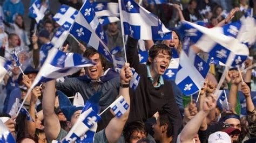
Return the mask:
[[[60,9],[52,19],[55,20],[55,22],[57,22],[65,30],[69,30],[77,14],[78,11],[76,9],[63,4],[60,6]]]

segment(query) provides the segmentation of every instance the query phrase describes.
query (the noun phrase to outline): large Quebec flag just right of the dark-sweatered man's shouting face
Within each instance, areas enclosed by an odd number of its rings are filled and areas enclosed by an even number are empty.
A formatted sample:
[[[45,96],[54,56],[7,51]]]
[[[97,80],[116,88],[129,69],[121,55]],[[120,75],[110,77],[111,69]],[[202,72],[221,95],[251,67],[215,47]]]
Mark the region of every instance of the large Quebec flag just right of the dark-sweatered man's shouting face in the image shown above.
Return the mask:
[[[180,53],[179,68],[175,83],[185,95],[193,95],[200,90],[205,82],[210,66],[190,48],[186,39]]]

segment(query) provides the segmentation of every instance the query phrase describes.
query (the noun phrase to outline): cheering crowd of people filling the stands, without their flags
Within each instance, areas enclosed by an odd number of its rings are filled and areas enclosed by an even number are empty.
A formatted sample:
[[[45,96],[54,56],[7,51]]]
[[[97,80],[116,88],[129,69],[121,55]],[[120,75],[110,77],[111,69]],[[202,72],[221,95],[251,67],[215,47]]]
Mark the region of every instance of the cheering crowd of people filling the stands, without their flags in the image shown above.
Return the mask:
[[[35,0],[31,0],[30,5],[33,2]],[[51,8],[51,1],[41,2]],[[77,10],[83,2],[59,0],[60,4]],[[183,48],[183,37],[176,28],[181,20],[203,21],[208,28],[223,26],[239,20],[247,9],[253,8],[255,11],[255,1],[173,0],[163,4],[154,1],[138,3],[172,30],[172,39],[144,40],[145,50],[149,53],[144,64],[139,62],[138,39],[128,37],[125,49],[116,53],[125,57],[126,52],[127,57],[127,62],[117,72],[113,63],[95,48],[83,41],[77,42],[69,35],[62,50],[78,53],[95,65],[33,88],[23,105],[31,119],[26,114],[16,113],[43,65],[42,59],[46,58],[42,49],[49,48],[59,25],[52,19],[55,13],[51,9],[45,12],[41,23],[36,24],[32,14],[24,12],[22,1],[5,0],[2,3],[0,58],[12,61],[12,70],[0,81],[0,119],[16,142],[63,140],[84,108],[75,104],[78,94],[82,96],[78,100],[84,103],[92,96],[99,96],[98,113],[107,109],[120,95],[130,105],[121,117],[114,116],[111,110],[100,115],[94,142],[256,142],[253,102],[256,95],[252,94],[256,91],[253,64],[255,46],[250,47],[252,58],[242,63],[242,72],[238,68],[228,70],[221,86],[221,89],[229,91],[223,104],[218,104],[219,98],[215,95],[218,81],[225,72],[223,66],[211,65],[204,85],[193,95],[194,99],[185,96],[174,81],[163,77],[172,62],[171,49],[177,49],[180,54]],[[30,29],[25,28],[24,17],[30,17]],[[120,22],[110,23],[104,26],[104,30],[110,51],[123,47]],[[13,51],[18,54],[21,66],[13,59]],[[194,52],[207,61],[207,53],[196,47]],[[133,77],[131,68],[140,76],[135,90],[129,84]],[[198,101],[195,100],[197,96]],[[245,99],[244,104],[240,103],[240,98]],[[241,113],[243,107],[246,108],[246,115]]]

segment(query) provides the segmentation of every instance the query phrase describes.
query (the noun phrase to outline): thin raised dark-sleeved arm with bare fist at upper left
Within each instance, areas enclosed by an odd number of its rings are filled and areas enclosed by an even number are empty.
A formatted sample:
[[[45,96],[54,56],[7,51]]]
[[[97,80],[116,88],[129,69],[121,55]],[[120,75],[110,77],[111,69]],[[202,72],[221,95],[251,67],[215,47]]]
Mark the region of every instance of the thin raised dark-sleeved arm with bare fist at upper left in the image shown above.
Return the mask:
[[[35,68],[37,68],[39,66],[39,63],[40,63],[40,49],[38,47],[38,44],[37,44],[37,36],[36,35],[32,35],[32,45],[33,45],[33,65],[35,66]]]

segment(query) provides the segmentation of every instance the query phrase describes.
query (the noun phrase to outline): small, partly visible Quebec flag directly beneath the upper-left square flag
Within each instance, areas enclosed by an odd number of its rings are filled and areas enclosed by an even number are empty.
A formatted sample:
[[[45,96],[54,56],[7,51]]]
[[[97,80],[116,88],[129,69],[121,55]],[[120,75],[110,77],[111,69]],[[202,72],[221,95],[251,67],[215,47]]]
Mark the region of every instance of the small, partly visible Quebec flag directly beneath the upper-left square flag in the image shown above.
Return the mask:
[[[51,39],[51,44],[53,45],[53,48],[62,47],[68,35],[68,31],[66,31],[63,27],[58,27],[58,30],[55,32],[54,36]]]

